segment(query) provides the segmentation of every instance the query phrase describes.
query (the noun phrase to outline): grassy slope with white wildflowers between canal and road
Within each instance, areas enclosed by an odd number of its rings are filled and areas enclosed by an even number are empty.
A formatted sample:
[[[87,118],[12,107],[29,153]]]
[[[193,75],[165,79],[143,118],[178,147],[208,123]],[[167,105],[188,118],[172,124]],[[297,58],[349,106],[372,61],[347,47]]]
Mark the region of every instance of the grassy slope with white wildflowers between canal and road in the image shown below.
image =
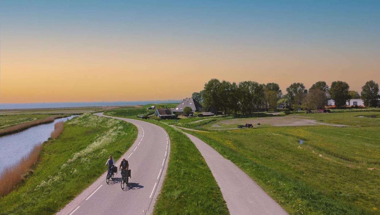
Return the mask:
[[[44,143],[34,174],[0,198],[0,214],[52,214],[106,171],[135,141],[127,122],[84,114],[65,123],[58,139]]]

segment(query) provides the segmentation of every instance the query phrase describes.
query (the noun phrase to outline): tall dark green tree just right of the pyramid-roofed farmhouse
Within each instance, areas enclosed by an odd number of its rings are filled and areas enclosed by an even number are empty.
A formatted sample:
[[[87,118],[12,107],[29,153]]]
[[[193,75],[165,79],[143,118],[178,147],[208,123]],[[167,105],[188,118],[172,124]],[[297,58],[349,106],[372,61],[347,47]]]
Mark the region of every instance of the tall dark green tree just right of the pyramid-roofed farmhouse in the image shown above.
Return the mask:
[[[218,79],[211,79],[204,84],[203,90],[203,104],[205,107],[213,106],[216,111],[222,109],[222,98],[220,98],[220,81]]]

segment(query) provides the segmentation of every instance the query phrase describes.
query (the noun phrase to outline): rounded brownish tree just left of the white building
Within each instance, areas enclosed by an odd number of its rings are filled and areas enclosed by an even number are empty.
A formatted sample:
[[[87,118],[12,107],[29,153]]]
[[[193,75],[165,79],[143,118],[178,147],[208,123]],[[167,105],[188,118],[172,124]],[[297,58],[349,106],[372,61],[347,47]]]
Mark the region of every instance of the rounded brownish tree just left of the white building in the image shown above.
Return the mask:
[[[323,109],[326,105],[326,101],[326,92],[319,88],[313,88],[310,89],[304,97],[302,106],[311,110]]]

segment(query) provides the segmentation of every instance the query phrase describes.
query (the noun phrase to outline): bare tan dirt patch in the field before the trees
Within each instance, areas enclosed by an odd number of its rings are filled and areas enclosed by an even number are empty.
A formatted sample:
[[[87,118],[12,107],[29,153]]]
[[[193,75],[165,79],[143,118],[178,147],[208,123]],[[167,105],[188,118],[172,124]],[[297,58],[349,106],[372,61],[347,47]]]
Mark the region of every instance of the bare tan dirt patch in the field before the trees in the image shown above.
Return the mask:
[[[231,124],[245,124],[250,123],[253,125],[257,125],[260,123],[261,125],[272,125],[272,126],[304,126],[304,125],[329,125],[329,126],[338,126],[343,127],[345,125],[336,125],[336,124],[328,124],[317,122],[317,120],[310,119],[311,117],[299,116],[299,115],[286,115],[283,117],[252,117],[252,118],[244,118],[244,119],[229,119],[222,120],[214,125],[231,125]]]

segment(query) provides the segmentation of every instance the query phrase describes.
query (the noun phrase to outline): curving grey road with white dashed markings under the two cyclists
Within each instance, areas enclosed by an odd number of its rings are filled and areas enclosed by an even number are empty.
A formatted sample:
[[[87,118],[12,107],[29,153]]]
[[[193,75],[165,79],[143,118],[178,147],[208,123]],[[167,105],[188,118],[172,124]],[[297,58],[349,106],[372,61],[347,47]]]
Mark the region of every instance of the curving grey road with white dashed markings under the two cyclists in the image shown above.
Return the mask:
[[[103,113],[95,115],[104,116]],[[90,187],[60,210],[59,215],[80,214],[150,214],[166,174],[170,141],[161,127],[134,119],[111,117],[133,123],[138,136],[122,156],[127,158],[132,178],[130,188],[120,187],[120,171],[114,182],[106,183],[105,172]],[[107,157],[104,158],[106,163]],[[116,161],[117,166],[120,160]]]

